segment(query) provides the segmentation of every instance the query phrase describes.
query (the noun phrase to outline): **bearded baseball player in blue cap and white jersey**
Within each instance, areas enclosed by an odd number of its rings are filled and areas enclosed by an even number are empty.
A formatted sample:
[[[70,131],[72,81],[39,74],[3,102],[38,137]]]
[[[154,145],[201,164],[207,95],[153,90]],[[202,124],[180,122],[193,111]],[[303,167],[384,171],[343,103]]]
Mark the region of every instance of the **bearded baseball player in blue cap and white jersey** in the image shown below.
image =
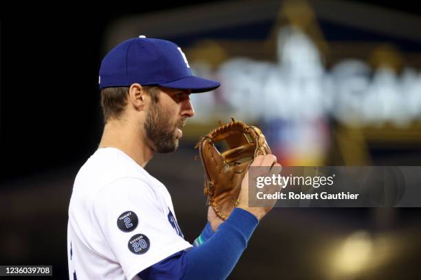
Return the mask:
[[[132,38],[100,66],[105,127],[98,150],[80,168],[69,204],[69,279],[225,279],[271,207],[248,207],[248,183],[226,221],[208,209],[193,245],[184,240],[171,196],[145,165],[177,149],[191,93],[219,82],[192,75],[180,47]],[[252,165],[277,165],[269,154]],[[182,189],[180,190],[182,191]]]

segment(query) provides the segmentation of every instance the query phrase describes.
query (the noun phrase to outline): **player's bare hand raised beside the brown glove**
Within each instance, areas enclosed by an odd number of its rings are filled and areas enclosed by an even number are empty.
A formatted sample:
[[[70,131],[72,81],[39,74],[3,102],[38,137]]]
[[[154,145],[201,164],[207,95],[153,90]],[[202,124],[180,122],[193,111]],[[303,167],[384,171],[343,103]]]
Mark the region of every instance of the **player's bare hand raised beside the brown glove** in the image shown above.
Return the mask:
[[[281,169],[281,165],[277,163],[277,157],[273,154],[266,154],[266,156],[257,156],[255,160],[252,162],[250,167],[266,167],[261,168],[259,171],[261,174],[259,176],[272,176],[274,169],[273,167],[278,167],[277,171],[279,172]],[[276,200],[272,200],[270,205],[266,205],[265,207],[249,207],[248,201],[248,171],[246,176],[244,176],[243,181],[241,182],[241,191],[239,194],[239,205],[237,207],[244,209],[253,215],[256,216],[258,220],[261,220],[269,211],[274,207]],[[281,186],[274,185],[271,186],[270,193],[274,193],[281,189]]]

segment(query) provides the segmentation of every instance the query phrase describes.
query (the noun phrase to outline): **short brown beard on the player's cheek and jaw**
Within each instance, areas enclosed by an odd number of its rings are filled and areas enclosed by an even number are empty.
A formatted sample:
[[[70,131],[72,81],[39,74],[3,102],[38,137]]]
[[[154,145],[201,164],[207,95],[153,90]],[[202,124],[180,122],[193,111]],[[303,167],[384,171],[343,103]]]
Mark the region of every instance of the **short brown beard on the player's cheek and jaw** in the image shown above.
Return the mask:
[[[175,135],[175,130],[183,126],[185,121],[181,119],[175,126],[172,126],[172,116],[172,113],[162,110],[158,103],[150,106],[144,122],[144,131],[149,140],[147,145],[151,150],[160,153],[177,150],[179,140]]]

